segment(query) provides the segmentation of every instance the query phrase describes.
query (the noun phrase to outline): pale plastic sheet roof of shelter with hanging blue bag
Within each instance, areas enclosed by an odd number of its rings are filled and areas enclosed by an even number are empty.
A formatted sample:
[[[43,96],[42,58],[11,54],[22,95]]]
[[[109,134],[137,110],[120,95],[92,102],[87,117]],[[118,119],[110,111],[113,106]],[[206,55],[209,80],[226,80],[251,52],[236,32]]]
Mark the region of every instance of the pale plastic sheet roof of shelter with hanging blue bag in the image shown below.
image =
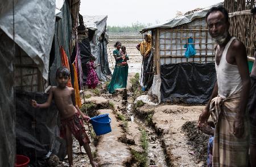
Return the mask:
[[[168,20],[166,23],[159,23],[159,24],[148,26],[146,28],[143,28],[141,33],[150,31],[151,29],[155,29],[155,28],[173,28],[178,25],[190,23],[195,19],[204,18],[211,7],[219,6],[219,5],[224,5],[224,2],[217,3],[216,5],[212,5],[210,7],[204,8],[203,10],[193,12],[192,14],[188,14],[188,15],[184,15],[178,18]]]

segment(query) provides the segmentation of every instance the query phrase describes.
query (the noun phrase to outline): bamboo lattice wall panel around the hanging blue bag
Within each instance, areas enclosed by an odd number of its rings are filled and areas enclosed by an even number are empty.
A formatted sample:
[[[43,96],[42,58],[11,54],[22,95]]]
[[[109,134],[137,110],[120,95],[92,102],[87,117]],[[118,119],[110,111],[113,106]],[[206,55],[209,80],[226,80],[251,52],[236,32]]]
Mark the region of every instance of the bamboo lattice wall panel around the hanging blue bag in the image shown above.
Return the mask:
[[[196,55],[186,58],[184,48],[188,38],[193,38]],[[191,23],[171,29],[160,29],[159,55],[160,65],[168,63],[214,62],[214,40],[210,37],[205,19],[196,19]]]

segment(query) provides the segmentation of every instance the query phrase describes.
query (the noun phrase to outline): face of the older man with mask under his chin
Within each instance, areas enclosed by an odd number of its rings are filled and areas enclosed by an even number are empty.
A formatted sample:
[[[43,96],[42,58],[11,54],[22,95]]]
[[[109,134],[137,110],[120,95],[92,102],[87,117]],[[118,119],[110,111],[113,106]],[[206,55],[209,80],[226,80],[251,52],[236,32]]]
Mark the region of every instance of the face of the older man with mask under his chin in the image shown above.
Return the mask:
[[[228,37],[229,23],[221,11],[213,11],[207,18],[208,31],[217,44],[222,44]]]

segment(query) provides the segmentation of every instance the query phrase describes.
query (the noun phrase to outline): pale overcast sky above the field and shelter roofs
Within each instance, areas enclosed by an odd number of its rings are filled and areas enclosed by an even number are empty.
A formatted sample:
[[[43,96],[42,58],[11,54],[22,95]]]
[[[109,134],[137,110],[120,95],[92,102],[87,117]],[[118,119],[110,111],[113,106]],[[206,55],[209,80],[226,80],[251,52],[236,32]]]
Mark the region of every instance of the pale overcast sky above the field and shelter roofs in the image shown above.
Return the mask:
[[[183,14],[197,7],[205,8],[221,0],[81,0],[81,15],[108,15],[107,25],[131,25],[131,23],[165,22],[176,16],[177,11]]]

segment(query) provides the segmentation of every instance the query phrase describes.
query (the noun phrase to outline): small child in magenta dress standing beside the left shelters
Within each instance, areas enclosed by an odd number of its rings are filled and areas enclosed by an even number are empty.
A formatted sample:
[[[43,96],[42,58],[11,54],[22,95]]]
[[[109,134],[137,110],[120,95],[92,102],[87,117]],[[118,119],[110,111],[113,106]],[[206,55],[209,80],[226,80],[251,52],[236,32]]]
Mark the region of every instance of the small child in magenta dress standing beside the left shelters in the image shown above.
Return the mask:
[[[87,74],[88,74],[86,79],[86,84],[88,85],[89,89],[95,89],[98,83],[100,83],[95,69],[101,65],[97,65],[94,67],[94,61],[96,61],[96,58],[93,55],[91,55],[90,60],[86,63]]]

